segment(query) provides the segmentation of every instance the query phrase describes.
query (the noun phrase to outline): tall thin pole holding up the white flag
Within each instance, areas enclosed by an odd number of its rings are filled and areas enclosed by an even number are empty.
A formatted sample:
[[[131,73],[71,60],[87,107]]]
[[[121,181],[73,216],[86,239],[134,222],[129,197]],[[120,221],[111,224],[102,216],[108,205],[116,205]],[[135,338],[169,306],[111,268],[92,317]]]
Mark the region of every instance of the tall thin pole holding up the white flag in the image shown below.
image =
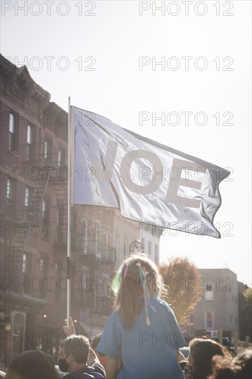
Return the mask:
[[[70,188],[71,188],[71,99],[68,97],[68,129],[67,129],[67,166],[68,166],[68,181],[67,181],[67,328],[70,326],[70,308],[71,308],[71,203],[70,203]]]

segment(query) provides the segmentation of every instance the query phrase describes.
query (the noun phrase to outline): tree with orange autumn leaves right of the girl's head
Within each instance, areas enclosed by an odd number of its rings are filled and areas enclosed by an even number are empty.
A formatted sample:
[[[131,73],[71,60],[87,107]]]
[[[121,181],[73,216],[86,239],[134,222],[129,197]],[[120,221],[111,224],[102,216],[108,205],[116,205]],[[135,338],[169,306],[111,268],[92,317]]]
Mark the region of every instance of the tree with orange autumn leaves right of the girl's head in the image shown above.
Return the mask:
[[[165,284],[161,298],[171,305],[178,323],[183,326],[202,294],[196,285],[201,277],[198,268],[187,258],[171,259],[159,268]]]

